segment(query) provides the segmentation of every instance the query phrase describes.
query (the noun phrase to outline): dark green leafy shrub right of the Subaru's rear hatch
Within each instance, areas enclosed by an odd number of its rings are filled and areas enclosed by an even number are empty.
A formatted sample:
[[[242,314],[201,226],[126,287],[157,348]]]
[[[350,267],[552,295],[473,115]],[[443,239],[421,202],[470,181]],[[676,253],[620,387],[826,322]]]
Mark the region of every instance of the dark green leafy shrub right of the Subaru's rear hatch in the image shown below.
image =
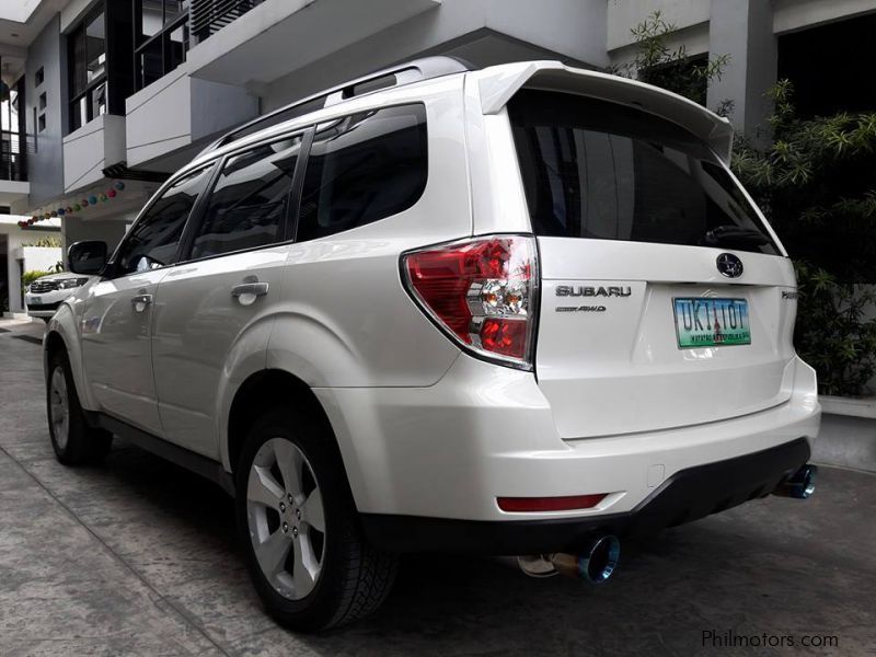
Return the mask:
[[[733,168],[794,257],[794,342],[826,394],[866,394],[876,374],[876,113],[800,118],[794,88],[770,92],[772,142],[742,140]]]

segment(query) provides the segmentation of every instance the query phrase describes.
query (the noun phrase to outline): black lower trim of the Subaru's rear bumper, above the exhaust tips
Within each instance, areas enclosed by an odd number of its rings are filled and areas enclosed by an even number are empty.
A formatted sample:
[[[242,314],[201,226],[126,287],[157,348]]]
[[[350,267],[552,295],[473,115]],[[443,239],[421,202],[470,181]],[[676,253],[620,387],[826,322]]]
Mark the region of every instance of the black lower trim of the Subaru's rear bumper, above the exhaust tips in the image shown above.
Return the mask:
[[[589,518],[476,521],[362,515],[372,544],[395,552],[543,554],[575,552],[588,537],[647,535],[768,495],[809,460],[798,438],[766,450],[677,472],[625,514]]]

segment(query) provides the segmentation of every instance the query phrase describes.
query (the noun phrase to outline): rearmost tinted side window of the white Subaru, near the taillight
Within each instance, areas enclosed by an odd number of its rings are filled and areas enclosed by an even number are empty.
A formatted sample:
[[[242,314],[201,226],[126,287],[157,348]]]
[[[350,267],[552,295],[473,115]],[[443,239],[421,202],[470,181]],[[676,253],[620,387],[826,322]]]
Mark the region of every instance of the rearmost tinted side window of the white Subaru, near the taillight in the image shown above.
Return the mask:
[[[426,107],[388,107],[316,135],[298,220],[299,242],[385,219],[426,188]]]

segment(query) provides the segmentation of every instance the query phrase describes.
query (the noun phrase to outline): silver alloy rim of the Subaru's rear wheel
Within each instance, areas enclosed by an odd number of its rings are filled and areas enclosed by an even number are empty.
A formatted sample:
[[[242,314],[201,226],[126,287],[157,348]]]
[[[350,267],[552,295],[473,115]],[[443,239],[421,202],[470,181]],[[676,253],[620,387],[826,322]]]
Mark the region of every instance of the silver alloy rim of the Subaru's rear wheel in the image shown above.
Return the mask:
[[[265,579],[301,600],[316,585],[325,556],[325,512],[313,469],[292,442],[272,438],[255,454],[246,485],[250,540]]]

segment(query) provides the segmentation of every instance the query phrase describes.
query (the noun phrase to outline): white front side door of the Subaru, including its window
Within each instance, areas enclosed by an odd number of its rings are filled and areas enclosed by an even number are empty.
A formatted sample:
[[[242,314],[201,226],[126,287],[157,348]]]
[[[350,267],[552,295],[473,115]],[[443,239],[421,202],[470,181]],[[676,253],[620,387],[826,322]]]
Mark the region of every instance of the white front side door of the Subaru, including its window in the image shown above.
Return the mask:
[[[146,210],[113,258],[110,276],[83,301],[82,362],[101,411],[162,435],[152,376],[152,323],[158,284],[209,171],[185,175]]]

